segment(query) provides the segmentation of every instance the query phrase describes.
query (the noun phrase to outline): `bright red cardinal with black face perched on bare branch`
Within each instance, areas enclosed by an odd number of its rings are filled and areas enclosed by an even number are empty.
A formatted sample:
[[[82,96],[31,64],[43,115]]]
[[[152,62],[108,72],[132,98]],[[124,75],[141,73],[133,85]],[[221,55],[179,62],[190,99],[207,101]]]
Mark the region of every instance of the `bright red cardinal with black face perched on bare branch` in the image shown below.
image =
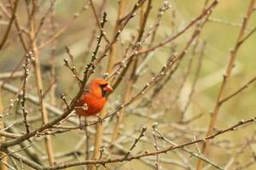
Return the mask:
[[[108,85],[106,80],[102,78],[92,79],[85,86],[84,94],[82,94],[75,107],[75,111],[79,115],[79,121],[80,116],[96,116],[98,112],[102,111],[106,104],[106,94],[111,91],[113,91],[113,88]]]

